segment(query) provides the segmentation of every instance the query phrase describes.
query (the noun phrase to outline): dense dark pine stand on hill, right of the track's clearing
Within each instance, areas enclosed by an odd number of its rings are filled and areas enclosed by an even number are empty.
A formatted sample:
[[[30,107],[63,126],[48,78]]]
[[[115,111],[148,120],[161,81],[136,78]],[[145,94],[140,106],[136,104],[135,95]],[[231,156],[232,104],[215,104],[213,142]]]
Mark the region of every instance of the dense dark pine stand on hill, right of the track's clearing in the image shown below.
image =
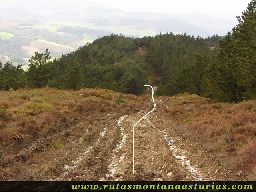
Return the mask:
[[[146,53],[146,61],[162,77],[158,94],[202,94],[203,78],[214,54],[214,50],[209,48],[208,39],[211,38],[172,33],[159,34],[153,38]],[[218,42],[218,38],[215,41]]]

